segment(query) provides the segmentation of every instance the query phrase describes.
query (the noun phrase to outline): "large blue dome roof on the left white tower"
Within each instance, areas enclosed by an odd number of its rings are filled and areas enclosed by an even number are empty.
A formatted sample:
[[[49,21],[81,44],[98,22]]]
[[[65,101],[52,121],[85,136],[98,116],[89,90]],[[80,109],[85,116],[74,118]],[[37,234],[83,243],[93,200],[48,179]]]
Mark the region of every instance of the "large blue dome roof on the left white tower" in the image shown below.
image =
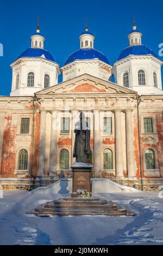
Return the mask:
[[[45,58],[48,61],[55,62],[55,59],[50,52],[41,48],[28,48],[26,51],[22,52],[18,58]]]

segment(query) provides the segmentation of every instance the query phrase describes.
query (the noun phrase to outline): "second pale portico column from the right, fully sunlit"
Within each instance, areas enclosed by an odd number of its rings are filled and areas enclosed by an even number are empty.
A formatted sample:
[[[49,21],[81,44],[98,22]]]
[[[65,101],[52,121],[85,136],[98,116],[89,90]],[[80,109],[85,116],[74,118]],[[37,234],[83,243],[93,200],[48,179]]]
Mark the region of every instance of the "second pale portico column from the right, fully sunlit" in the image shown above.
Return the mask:
[[[116,177],[123,177],[123,153],[121,133],[121,110],[114,110],[115,114],[115,165]]]

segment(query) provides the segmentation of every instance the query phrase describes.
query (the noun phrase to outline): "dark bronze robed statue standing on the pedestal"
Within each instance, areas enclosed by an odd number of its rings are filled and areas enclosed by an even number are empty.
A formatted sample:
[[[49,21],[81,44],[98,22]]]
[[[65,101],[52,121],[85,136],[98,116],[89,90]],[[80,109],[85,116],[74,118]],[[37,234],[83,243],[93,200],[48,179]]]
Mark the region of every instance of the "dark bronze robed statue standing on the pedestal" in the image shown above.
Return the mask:
[[[80,112],[79,121],[74,129],[76,134],[74,142],[73,157],[76,157],[76,162],[86,163],[87,158],[91,154],[90,148],[90,128],[85,121],[83,112]]]

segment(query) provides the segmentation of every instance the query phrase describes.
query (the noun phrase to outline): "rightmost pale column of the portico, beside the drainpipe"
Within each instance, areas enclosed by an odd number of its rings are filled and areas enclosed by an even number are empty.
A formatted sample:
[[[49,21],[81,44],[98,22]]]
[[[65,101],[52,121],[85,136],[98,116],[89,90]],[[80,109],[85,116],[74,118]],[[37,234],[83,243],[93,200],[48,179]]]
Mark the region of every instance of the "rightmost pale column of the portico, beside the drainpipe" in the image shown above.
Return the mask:
[[[132,126],[132,111],[127,109],[126,112],[126,153],[127,153],[127,171],[128,177],[135,177],[135,162],[134,162],[134,138]]]

